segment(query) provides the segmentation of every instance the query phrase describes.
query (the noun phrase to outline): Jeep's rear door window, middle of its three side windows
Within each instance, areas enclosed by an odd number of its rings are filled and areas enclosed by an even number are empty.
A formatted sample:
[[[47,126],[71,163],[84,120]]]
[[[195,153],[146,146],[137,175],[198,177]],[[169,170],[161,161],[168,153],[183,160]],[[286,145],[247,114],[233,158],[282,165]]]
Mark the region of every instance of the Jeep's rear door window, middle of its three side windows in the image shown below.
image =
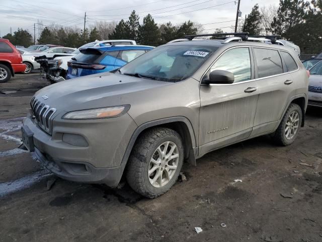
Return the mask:
[[[277,50],[254,48],[258,77],[269,77],[283,73],[281,56]]]

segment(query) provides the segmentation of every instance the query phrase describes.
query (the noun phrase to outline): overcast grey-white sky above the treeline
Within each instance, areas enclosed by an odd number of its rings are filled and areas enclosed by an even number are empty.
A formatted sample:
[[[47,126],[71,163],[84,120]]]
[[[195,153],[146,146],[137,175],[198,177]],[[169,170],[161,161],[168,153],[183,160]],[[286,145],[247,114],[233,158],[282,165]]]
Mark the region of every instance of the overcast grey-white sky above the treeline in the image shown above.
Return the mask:
[[[241,0],[243,18],[256,3],[260,7],[278,5],[279,0]],[[100,20],[118,22],[122,18],[128,19],[133,9],[140,16],[140,23],[150,13],[158,24],[169,21],[179,24],[191,20],[203,24],[206,32],[215,28],[229,32],[229,26],[234,25],[237,5],[231,0],[1,0],[0,36],[10,33],[10,27],[13,33],[20,27],[33,34],[34,23],[38,20],[44,26],[56,23],[83,28],[85,12],[87,26]]]

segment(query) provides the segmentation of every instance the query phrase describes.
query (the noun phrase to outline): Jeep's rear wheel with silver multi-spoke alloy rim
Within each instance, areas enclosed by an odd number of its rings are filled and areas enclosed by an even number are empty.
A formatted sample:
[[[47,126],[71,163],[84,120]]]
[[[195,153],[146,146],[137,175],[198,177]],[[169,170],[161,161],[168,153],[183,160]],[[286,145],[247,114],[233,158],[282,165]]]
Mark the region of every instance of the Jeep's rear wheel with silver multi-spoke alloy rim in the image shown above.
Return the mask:
[[[302,123],[302,110],[299,105],[291,103],[274,134],[278,145],[287,146],[294,142]]]

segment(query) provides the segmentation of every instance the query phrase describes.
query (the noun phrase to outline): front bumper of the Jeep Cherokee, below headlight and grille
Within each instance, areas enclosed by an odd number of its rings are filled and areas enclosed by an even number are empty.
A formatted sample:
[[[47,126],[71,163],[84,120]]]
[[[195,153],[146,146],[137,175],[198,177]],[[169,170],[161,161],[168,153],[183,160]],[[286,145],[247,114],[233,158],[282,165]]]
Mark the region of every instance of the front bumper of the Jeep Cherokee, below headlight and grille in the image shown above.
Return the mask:
[[[114,120],[91,120],[88,124],[81,122],[80,125],[77,121],[68,123],[63,120],[55,123],[52,136],[41,130],[30,115],[24,119],[23,125],[33,133],[36,157],[57,176],[72,181],[117,186],[126,164],[121,163],[126,149],[121,144],[128,141],[124,140],[124,135],[117,137],[115,132],[120,133],[118,128],[125,126],[135,129],[132,118],[124,114]],[[63,139],[64,134],[81,135],[88,145],[68,144]]]

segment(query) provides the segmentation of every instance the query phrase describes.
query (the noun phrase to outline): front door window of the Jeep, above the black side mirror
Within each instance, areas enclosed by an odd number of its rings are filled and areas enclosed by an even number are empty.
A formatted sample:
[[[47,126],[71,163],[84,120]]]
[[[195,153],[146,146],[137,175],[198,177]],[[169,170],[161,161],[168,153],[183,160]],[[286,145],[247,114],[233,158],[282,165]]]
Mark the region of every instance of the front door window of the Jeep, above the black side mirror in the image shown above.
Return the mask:
[[[252,78],[251,56],[249,48],[234,48],[223,53],[210,68],[233,73],[234,82],[248,81]]]

